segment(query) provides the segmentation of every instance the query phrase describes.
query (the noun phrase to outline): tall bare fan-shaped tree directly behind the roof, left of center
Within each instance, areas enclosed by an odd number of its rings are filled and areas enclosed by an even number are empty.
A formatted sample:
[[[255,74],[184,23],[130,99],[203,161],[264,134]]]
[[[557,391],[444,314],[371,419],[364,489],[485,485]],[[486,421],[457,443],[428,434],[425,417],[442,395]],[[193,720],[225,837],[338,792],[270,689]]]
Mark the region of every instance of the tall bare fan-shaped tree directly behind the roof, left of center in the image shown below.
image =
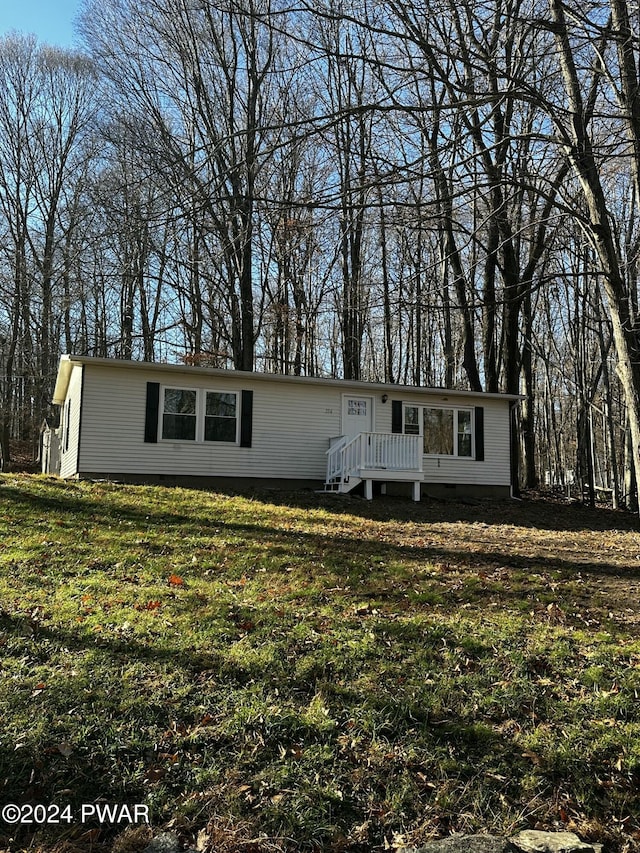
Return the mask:
[[[116,15],[127,25],[114,39]],[[96,3],[83,26],[148,168],[190,222],[194,263],[208,258],[232,361],[243,370],[254,365],[256,205],[279,85],[269,15],[269,0],[227,8],[113,0]]]

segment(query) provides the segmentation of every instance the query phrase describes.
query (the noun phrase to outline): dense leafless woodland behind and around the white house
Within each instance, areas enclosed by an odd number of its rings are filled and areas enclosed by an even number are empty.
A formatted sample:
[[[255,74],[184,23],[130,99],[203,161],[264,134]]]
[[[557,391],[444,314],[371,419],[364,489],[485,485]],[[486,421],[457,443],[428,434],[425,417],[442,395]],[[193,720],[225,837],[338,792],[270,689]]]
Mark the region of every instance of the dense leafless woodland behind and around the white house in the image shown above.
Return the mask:
[[[58,358],[521,393],[637,507],[640,8],[88,0],[0,39],[0,457]]]

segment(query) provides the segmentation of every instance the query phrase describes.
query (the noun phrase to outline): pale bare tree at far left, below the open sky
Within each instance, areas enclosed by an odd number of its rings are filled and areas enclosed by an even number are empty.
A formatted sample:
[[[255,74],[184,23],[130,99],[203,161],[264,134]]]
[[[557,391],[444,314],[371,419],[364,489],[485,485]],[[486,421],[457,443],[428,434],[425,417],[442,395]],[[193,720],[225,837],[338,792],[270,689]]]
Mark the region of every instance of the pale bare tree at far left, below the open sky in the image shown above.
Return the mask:
[[[95,102],[89,62],[39,46],[33,37],[0,42],[0,74],[0,212],[8,238],[0,434],[7,465],[16,393],[28,407],[24,425],[32,428],[47,411],[53,389],[64,194],[84,175],[80,147]]]

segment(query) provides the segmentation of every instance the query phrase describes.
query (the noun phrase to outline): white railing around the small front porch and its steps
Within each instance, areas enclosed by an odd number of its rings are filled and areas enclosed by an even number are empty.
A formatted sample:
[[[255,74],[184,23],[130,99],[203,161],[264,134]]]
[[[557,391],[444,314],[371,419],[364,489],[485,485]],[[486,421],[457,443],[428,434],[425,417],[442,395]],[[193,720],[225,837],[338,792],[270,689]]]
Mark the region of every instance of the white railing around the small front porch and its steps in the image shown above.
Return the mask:
[[[343,436],[327,451],[327,481],[363,470],[422,472],[420,436],[361,432]]]

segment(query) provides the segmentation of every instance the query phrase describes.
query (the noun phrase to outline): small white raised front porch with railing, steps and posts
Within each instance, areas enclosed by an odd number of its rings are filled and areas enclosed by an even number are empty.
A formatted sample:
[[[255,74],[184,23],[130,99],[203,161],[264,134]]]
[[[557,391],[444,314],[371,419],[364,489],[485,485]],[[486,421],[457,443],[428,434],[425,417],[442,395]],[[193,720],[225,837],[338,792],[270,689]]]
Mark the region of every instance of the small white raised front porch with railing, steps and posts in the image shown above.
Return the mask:
[[[420,500],[422,439],[419,435],[361,432],[333,440],[327,451],[325,492],[346,494],[364,482],[364,495],[373,498],[373,483],[413,484],[413,499]]]

